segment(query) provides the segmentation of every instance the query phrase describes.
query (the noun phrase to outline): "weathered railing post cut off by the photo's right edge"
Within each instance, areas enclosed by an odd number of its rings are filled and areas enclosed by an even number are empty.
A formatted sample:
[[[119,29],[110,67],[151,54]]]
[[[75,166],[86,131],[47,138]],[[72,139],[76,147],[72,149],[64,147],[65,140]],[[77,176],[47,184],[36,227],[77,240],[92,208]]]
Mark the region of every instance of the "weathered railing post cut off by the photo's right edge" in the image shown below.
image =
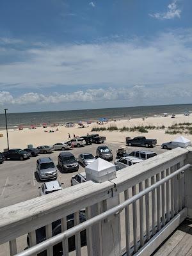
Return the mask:
[[[189,153],[187,157],[187,161],[189,164],[192,164],[192,147],[186,148]],[[185,171],[184,173],[184,201],[185,207],[188,209],[188,217],[192,218],[192,166]]]

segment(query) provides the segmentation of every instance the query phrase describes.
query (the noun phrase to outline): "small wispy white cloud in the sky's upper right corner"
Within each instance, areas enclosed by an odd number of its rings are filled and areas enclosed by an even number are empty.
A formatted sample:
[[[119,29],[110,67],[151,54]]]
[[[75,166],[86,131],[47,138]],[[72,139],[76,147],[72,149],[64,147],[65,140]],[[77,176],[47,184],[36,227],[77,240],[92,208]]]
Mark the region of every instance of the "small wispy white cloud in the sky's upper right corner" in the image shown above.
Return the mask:
[[[163,12],[163,13],[157,12],[149,15],[150,17],[164,20],[164,19],[180,18],[180,13],[181,13],[181,10],[177,7],[177,0],[175,0],[172,3],[168,4],[167,12]]]

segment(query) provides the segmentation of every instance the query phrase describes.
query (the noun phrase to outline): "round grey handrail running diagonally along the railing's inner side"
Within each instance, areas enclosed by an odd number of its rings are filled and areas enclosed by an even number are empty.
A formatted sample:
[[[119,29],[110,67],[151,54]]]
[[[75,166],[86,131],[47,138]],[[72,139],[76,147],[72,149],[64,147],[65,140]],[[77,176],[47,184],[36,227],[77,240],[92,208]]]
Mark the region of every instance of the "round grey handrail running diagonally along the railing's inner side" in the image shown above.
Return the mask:
[[[17,256],[30,256],[34,255],[36,253],[40,253],[43,250],[46,250],[50,246],[54,246],[55,244],[60,243],[61,241],[68,239],[68,237],[72,237],[77,232],[81,232],[82,230],[92,227],[95,225],[95,223],[99,223],[99,221],[107,219],[109,216],[113,214],[119,214],[125,207],[128,205],[133,204],[143,196],[147,195],[148,193],[154,191],[154,189],[159,188],[159,186],[163,185],[164,183],[168,182],[169,180],[173,179],[176,175],[179,175],[180,173],[184,172],[187,170],[191,164],[186,164],[185,166],[179,168],[179,170],[171,173],[170,175],[164,177],[163,179],[157,181],[155,184],[152,184],[146,189],[143,189],[140,193],[132,196],[131,198],[125,200],[122,204],[116,205],[115,207],[109,209],[106,212],[102,212],[101,214],[91,218],[90,220],[86,220],[83,223],[76,225],[75,227],[70,228],[69,230],[66,230],[65,232],[61,232],[61,234],[58,234],[57,236],[51,237],[47,239],[46,241],[36,244],[35,246],[28,248],[26,251],[17,253]]]

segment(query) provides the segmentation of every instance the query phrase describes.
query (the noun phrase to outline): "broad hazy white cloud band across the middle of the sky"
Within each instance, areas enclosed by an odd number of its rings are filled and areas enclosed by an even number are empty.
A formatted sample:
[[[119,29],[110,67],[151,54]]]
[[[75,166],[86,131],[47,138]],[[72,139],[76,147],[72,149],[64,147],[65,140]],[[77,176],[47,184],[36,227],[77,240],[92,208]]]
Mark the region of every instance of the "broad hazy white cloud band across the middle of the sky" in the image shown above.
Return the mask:
[[[0,90],[36,92],[38,88],[45,92],[52,86],[50,90],[56,92],[56,86],[62,86],[66,92],[66,86],[84,91],[84,87],[127,88],[134,84],[158,89],[156,84],[175,84],[182,88],[192,80],[191,43],[192,31],[183,30],[127,42],[118,38],[118,42],[42,44],[22,50],[9,45],[0,50]]]

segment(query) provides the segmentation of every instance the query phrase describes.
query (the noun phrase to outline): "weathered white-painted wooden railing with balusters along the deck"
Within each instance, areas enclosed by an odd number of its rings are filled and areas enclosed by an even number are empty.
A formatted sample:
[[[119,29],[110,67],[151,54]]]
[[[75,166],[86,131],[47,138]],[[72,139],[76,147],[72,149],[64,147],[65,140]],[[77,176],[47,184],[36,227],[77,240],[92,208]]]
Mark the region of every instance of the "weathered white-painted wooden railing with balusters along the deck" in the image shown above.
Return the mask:
[[[68,237],[75,236],[74,255],[150,255],[191,211],[191,195],[184,184],[185,172],[191,179],[189,153],[176,148],[118,171],[115,179],[90,180],[5,207],[0,211],[0,244],[9,242],[10,255],[45,250],[48,256],[54,255],[54,244],[62,243],[67,256]],[[79,224],[81,209],[86,209],[86,221]],[[67,230],[67,216],[72,213],[74,227]],[[56,220],[61,220],[61,233],[52,237],[51,223]],[[45,227],[46,240],[36,244],[35,230],[40,227]],[[87,244],[83,248],[82,230],[86,230]],[[29,234],[27,250],[18,239],[25,234]]]

